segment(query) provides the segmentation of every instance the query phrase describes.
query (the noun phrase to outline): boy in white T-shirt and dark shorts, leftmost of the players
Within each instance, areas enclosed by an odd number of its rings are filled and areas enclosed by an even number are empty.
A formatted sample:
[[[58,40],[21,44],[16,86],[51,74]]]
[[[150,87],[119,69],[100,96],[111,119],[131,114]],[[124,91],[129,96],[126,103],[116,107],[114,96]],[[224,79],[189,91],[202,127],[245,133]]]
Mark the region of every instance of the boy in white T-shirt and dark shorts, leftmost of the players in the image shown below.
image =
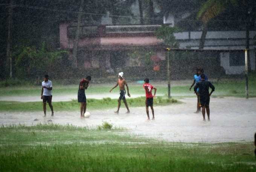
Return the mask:
[[[46,117],[46,102],[52,110],[53,117],[53,107],[52,107],[52,81],[49,80],[49,75],[44,75],[44,81],[42,82],[41,99],[43,99],[43,110],[44,117]]]

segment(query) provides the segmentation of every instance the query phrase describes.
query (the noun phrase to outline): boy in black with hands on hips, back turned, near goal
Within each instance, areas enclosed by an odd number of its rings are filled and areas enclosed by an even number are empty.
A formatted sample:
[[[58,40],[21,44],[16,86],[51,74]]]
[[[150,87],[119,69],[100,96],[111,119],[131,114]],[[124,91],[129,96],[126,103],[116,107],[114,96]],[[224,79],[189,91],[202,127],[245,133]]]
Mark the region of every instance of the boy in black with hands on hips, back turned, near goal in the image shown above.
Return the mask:
[[[209,94],[209,87],[212,89],[212,91]],[[201,75],[201,81],[198,82],[195,87],[194,91],[197,91],[197,88],[199,88],[199,96],[200,96],[200,103],[202,106],[202,115],[203,115],[203,121],[205,121],[205,109],[208,117],[208,121],[210,121],[210,96],[212,95],[212,92],[215,90],[215,87],[210,83],[209,81],[205,81],[205,75]]]

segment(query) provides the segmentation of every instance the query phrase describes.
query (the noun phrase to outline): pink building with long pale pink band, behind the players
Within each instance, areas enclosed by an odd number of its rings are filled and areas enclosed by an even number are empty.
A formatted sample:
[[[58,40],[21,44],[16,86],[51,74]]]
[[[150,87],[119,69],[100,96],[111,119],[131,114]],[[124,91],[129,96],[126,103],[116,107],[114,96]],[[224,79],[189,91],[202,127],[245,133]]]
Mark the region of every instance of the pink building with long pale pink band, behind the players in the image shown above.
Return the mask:
[[[153,51],[165,59],[154,31],[161,25],[99,25],[81,26],[77,59],[73,58],[76,24],[62,23],[59,26],[61,49],[70,51],[70,60],[84,69],[116,69],[124,66],[141,66],[137,52]],[[145,51],[146,50],[146,51]],[[135,57],[134,57],[135,56]],[[139,55],[138,55],[139,56]]]

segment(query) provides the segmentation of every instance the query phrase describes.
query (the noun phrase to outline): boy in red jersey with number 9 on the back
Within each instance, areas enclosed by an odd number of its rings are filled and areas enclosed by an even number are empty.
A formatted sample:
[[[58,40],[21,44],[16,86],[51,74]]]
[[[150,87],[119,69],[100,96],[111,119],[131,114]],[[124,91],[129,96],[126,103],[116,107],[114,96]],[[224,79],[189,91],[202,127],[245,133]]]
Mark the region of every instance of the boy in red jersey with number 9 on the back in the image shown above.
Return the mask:
[[[155,97],[155,93],[157,92],[157,88],[153,87],[151,84],[149,84],[149,79],[145,78],[144,79],[144,84],[143,84],[143,88],[145,89],[146,92],[146,113],[148,115],[148,120],[150,120],[149,118],[149,112],[148,112],[148,106],[150,106],[151,110],[152,110],[152,120],[155,119],[154,116],[154,108],[153,108],[153,97]],[[152,89],[154,89],[154,96],[152,95]]]

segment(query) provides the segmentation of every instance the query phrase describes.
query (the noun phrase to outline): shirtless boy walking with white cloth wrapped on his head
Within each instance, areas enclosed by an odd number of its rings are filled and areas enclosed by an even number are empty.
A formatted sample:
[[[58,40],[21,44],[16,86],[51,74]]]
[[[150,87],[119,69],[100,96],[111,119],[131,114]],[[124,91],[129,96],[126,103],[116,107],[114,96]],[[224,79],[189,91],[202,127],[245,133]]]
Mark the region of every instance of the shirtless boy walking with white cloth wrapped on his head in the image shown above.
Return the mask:
[[[127,109],[126,114],[129,114],[129,113],[130,113],[130,110],[129,110],[129,108],[128,108],[128,105],[127,105],[127,102],[126,102],[126,99],[125,99],[125,93],[126,93],[126,91],[125,91],[125,85],[126,85],[126,88],[127,88],[127,93],[128,93],[127,95],[128,95],[129,97],[131,97],[131,95],[130,95],[130,93],[129,93],[128,85],[127,85],[125,79],[123,78],[123,72],[120,72],[120,73],[118,74],[117,83],[116,83],[116,85],[115,85],[109,92],[111,93],[111,91],[112,91],[114,88],[116,88],[118,85],[119,85],[119,89],[120,89],[120,97],[119,97],[119,99],[118,99],[117,111],[116,111],[115,113],[116,113],[116,114],[119,113],[119,109],[120,109],[120,105],[121,105],[121,100],[123,100],[123,103],[125,103],[125,107],[126,107],[126,109]]]

